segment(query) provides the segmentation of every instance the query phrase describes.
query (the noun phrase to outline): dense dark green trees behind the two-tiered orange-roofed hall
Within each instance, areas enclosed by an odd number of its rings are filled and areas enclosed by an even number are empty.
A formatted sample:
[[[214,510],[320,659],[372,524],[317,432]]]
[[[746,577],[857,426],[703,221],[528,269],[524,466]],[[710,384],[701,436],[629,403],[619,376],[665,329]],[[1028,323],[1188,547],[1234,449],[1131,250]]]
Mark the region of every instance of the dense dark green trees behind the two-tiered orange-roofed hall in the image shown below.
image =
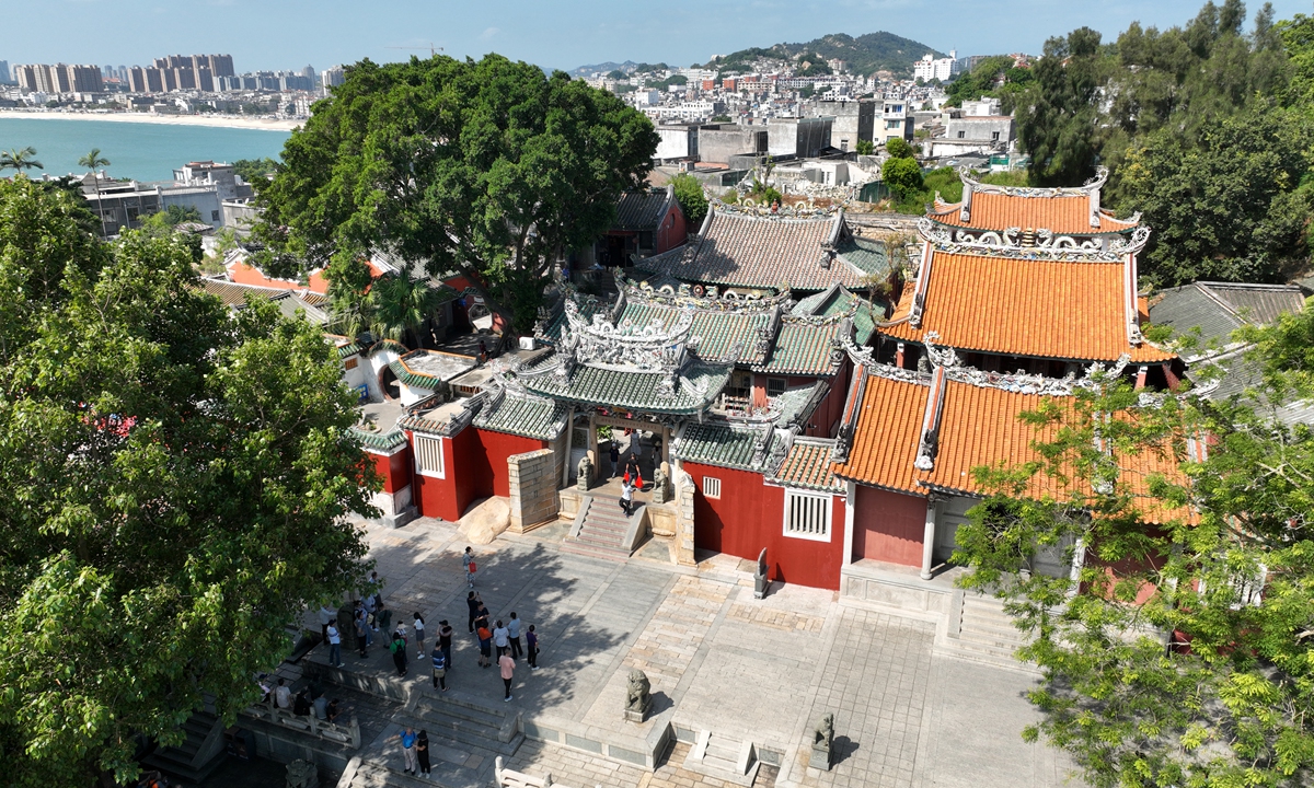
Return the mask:
[[[1155,232],[1146,284],[1281,281],[1309,263],[1314,22],[1206,3],[1183,26],[1051,38],[1016,95],[1035,185],[1110,169],[1105,204]],[[966,97],[966,96],[964,96]]]

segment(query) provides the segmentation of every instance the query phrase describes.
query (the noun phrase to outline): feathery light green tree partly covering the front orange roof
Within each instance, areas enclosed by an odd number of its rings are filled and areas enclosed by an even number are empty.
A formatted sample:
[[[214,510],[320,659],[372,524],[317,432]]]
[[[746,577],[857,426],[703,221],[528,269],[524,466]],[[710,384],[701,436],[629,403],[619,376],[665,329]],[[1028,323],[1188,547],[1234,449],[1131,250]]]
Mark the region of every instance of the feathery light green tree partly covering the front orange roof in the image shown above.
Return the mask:
[[[955,559],[1034,638],[1025,735],[1091,785],[1314,781],[1314,431],[1265,406],[1314,394],[1311,336],[1311,310],[1250,336],[1285,391],[1146,403],[1105,381],[1026,415],[1039,461],[976,471],[997,494]],[[1037,475],[1051,496],[1024,494]],[[1021,571],[1039,550],[1084,550],[1075,582]]]

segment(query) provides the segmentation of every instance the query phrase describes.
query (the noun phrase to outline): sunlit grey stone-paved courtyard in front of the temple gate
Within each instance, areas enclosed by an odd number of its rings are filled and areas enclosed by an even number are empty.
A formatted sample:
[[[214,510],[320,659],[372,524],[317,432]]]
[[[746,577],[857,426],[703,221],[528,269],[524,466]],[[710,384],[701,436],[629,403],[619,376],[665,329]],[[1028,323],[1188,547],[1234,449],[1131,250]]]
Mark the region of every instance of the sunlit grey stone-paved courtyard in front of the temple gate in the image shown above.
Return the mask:
[[[694,570],[674,566],[654,544],[627,562],[570,554],[560,550],[557,525],[474,548],[476,591],[491,619],[515,611],[540,636],[540,670],[519,661],[514,700],[503,704],[497,667],[478,667],[477,642],[466,632],[460,561],[466,542],[457,528],[427,517],[365,528],[394,625],[401,620],[410,629],[419,611],[430,647],[440,620],[456,630],[442,700],[495,705],[524,720],[526,738],[512,745],[514,754],[506,743],[461,743],[431,729],[435,784],[494,784],[501,751],[506,768],[551,774],[555,784],[573,788],[1083,785],[1064,755],[1020,737],[1038,718],[1024,697],[1034,674],[937,653],[929,620],[779,583],[754,599],[753,566],[724,556],[700,554]],[[296,680],[325,666],[326,657],[318,646],[283,672]],[[409,675],[398,679],[380,640],[364,659],[343,650],[342,675],[385,688],[327,687],[361,726],[361,776],[343,784],[384,784],[380,776],[414,783],[401,774],[397,742],[388,739],[409,720],[423,724],[414,703],[405,703],[428,695],[428,663],[415,657],[413,646]],[[652,684],[653,708],[643,725],[622,717],[635,667]],[[834,716],[834,766],[821,771],[808,767],[808,756],[812,730],[827,713]],[[628,753],[615,742],[650,741],[654,717],[669,721],[679,739],[661,747],[656,770],[606,758],[594,743],[611,737],[612,753]],[[708,768],[717,747],[732,759],[748,742],[761,762],[748,779]],[[700,747],[706,762],[691,758]],[[389,775],[367,779],[371,770]],[[322,784],[338,777],[322,770]]]

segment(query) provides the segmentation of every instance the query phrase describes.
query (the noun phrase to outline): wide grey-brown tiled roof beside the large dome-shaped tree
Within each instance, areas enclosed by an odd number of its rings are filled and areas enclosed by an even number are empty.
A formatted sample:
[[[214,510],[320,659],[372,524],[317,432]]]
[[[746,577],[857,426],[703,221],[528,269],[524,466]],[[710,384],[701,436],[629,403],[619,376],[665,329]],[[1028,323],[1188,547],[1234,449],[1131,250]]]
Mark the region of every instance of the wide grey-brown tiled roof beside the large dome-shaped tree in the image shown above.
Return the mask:
[[[866,272],[825,244],[838,238],[844,217],[746,215],[711,209],[702,235],[636,265],[686,282],[733,288],[825,290],[834,282],[855,288]]]

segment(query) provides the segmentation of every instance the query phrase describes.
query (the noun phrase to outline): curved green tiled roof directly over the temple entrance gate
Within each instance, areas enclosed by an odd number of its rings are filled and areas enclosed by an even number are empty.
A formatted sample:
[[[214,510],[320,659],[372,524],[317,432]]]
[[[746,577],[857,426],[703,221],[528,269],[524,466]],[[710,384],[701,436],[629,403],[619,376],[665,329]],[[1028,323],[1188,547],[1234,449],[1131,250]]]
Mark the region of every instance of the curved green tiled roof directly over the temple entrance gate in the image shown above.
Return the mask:
[[[661,372],[581,364],[570,374],[569,382],[562,382],[551,372],[556,366],[555,359],[549,356],[543,364],[523,372],[520,382],[524,387],[535,394],[566,402],[656,414],[691,415],[706,410],[731,377],[729,365],[692,362],[681,373],[675,383],[675,395],[662,397],[660,391],[665,374]],[[536,370],[547,372],[535,374]]]

